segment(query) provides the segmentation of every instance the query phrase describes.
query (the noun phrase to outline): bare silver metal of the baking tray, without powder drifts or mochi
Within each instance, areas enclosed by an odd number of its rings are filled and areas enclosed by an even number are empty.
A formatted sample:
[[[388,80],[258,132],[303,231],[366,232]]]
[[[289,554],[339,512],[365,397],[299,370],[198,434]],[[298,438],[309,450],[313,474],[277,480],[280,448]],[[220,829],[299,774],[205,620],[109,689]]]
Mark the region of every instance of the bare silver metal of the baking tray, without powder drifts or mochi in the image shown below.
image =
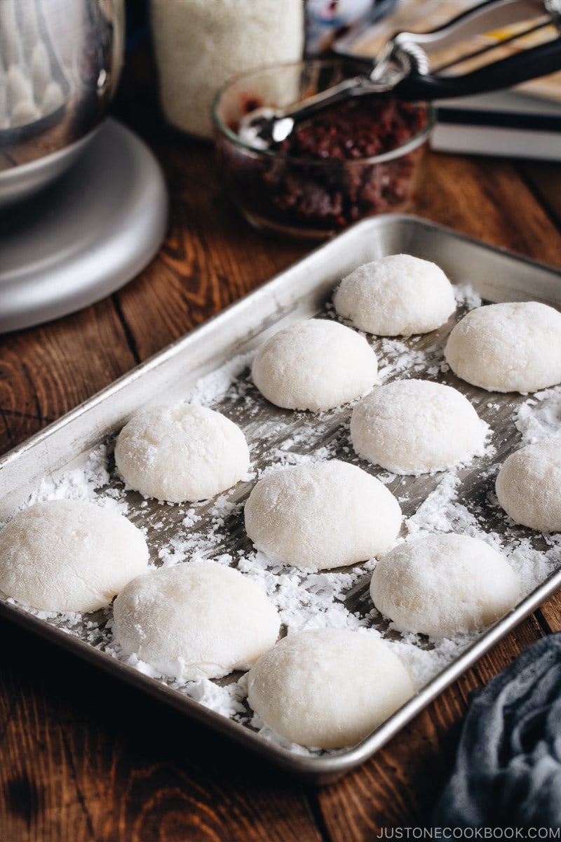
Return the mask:
[[[306,317],[335,317],[330,306],[331,294],[344,274],[368,260],[400,252],[434,261],[454,284],[471,285],[484,301],[533,299],[561,306],[561,272],[557,269],[492,248],[415,216],[378,216],[359,222],[3,456],[0,460],[0,520],[8,520],[13,511],[28,503],[30,498],[40,497],[45,483],[49,487],[56,486],[62,482],[61,477],[83,472],[93,452],[105,449],[110,460],[114,436],[136,408],[147,402],[188,398],[193,390],[200,392],[201,383],[209,382],[214,382],[214,397],[209,405],[240,424],[257,472],[278,461],[278,454],[289,461],[293,456],[300,459],[313,455],[314,451],[315,454],[351,459],[381,477],[384,472],[359,461],[349,447],[350,407],[318,415],[274,408],[252,385],[249,361],[263,339],[284,325]],[[361,764],[561,587],[561,544],[556,544],[554,537],[509,526],[498,506],[490,504],[490,488],[498,465],[520,444],[514,413],[531,396],[484,392],[446,371],[446,366],[441,365],[442,346],[454,321],[451,319],[446,328],[424,337],[403,340],[403,344],[371,339],[379,367],[384,370],[386,366],[386,375],[393,366],[391,376],[412,374],[446,381],[474,402],[479,416],[494,430],[493,449],[458,472],[462,505],[474,513],[473,517],[484,529],[492,530],[505,541],[520,540],[530,552],[544,557],[548,553],[548,564],[543,567],[542,580],[536,583],[537,586],[532,585],[531,592],[511,613],[454,650],[450,663],[438,669],[400,711],[363,742],[338,751],[307,751],[259,733],[251,724],[251,717],[229,718],[210,710],[186,695],[181,686],[151,678],[115,657],[108,645],[110,609],[87,615],[86,620],[80,616],[69,620],[67,616],[45,616],[24,610],[0,594],[0,613],[306,781],[332,781]],[[401,357],[396,348],[407,349],[405,358],[408,365],[412,365],[409,371],[400,370]],[[237,360],[239,373],[230,378],[231,382],[228,381],[220,393],[215,386],[218,376],[215,373],[219,372],[220,381],[232,360]],[[223,496],[222,504],[226,504],[223,509],[230,514],[225,515],[220,530],[216,528],[213,501],[194,507],[146,501],[127,491],[111,467],[109,462],[108,479],[99,493],[109,493],[126,502],[130,520],[144,528],[147,540],[153,546],[153,561],[158,562],[161,553],[167,552],[165,548],[169,548],[177,530],[183,530],[188,541],[185,519],[192,509],[197,515],[191,519],[192,523],[196,521],[192,529],[198,536],[203,535],[205,529],[212,534],[203,555],[216,557],[220,553],[230,553],[233,558],[237,553],[238,557],[251,558],[251,542],[242,528],[242,509],[257,473],[252,482],[240,482]],[[415,514],[441,480],[442,474],[384,477],[390,490],[399,496],[405,519]],[[101,480],[99,482],[103,485]],[[352,586],[344,594],[345,610],[355,612],[363,623],[366,617],[368,623],[376,626],[391,642],[396,632],[392,632],[391,626],[377,616],[368,603],[369,574],[360,565],[357,568]],[[421,653],[423,649],[430,650],[432,644],[419,637],[407,645],[418,646]],[[222,685],[236,678],[239,676],[222,679]]]

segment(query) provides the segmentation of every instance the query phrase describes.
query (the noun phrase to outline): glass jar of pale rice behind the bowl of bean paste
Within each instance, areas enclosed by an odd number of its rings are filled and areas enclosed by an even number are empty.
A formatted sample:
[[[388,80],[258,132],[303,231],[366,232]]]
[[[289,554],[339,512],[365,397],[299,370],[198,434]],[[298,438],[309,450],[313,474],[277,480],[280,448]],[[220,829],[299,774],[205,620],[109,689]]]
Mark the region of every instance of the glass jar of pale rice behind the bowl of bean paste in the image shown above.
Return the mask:
[[[212,137],[214,94],[238,73],[304,52],[303,0],[151,0],[161,108],[177,129]]]

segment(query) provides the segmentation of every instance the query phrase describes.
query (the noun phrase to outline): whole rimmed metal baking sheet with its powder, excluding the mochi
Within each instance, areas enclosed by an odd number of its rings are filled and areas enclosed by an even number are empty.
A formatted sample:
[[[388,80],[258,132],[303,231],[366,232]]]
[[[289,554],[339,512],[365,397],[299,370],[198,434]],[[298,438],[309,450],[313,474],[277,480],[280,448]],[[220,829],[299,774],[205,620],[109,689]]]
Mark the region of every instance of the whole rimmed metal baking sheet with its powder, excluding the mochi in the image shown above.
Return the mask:
[[[393,477],[355,456],[348,436],[351,406],[318,414],[274,408],[257,392],[250,374],[251,356],[269,333],[302,318],[334,318],[330,301],[338,280],[359,264],[400,252],[440,265],[458,285],[459,306],[445,328],[424,337],[371,338],[382,379],[420,376],[456,386],[492,430],[484,456],[456,470],[421,477]],[[552,408],[561,405],[561,387],[537,396],[499,395],[452,376],[443,362],[442,347],[453,323],[473,306],[473,290],[485,301],[533,299],[561,306],[561,272],[413,216],[374,217],[317,248],[0,461],[2,521],[37,499],[100,498],[125,509],[130,520],[145,530],[153,562],[212,557],[256,578],[276,600],[290,631],[340,625],[374,629],[386,638],[405,658],[419,689],[362,743],[322,752],[274,738],[252,717],[244,697],[244,677],[239,674],[200,686],[182,685],[147,674],[142,664],[125,663],[112,642],[110,609],[91,616],[50,616],[0,597],[2,615],[306,780],[330,781],[362,763],[561,587],[561,539],[512,525],[493,498],[495,475],[505,456],[525,437],[548,433]],[[145,500],[124,488],[114,472],[114,436],[136,408],[185,399],[217,408],[241,426],[250,445],[251,474],[220,498],[203,504],[169,506]],[[504,550],[523,579],[527,595],[520,605],[478,636],[434,642],[399,635],[373,610],[368,563],[319,575],[267,564],[253,551],[243,530],[243,503],[253,483],[278,466],[335,457],[360,464],[387,483],[400,499],[404,536],[458,530],[484,536]]]

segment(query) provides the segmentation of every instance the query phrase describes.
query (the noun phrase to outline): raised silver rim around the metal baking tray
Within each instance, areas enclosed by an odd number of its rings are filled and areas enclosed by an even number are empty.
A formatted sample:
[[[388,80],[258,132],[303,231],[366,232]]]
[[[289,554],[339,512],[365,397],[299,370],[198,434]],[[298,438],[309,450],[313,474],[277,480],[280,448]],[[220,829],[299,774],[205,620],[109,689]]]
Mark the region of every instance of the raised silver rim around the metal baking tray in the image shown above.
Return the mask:
[[[92,408],[105,403],[123,387],[129,386],[130,383],[135,381],[143,380],[147,373],[156,372],[158,367],[163,365],[167,360],[182,354],[188,345],[194,342],[204,341],[205,335],[207,333],[213,335],[217,328],[220,328],[222,322],[230,322],[231,319],[236,318],[241,312],[245,312],[247,308],[254,306],[256,301],[261,301],[263,298],[269,297],[272,294],[274,297],[275,292],[282,290],[283,285],[286,284],[287,275],[299,272],[305,273],[307,267],[314,263],[318,253],[325,254],[331,248],[339,248],[341,239],[347,239],[349,242],[352,242],[352,240],[359,241],[361,237],[368,236],[368,232],[371,230],[383,228],[389,232],[394,232],[399,227],[405,227],[407,229],[411,226],[442,232],[447,237],[473,243],[478,248],[484,248],[492,253],[499,252],[508,258],[516,259],[517,263],[527,264],[528,267],[553,274],[561,282],[561,273],[559,270],[548,264],[527,258],[505,248],[495,247],[480,241],[476,237],[470,237],[461,232],[453,231],[453,229],[432,223],[418,216],[408,216],[405,214],[384,215],[358,222],[355,226],[348,229],[347,232],[315,248],[310,254],[288,267],[288,269],[275,274],[273,278],[258,287],[257,290],[247,293],[246,296],[225,307],[223,311],[211,317],[204,324],[193,328],[192,331],[178,338],[140,365],[135,366],[135,368],[120,376],[92,397],[87,398],[86,401],[80,403],[76,408],[62,415],[61,418],[58,418],[38,433],[30,436],[29,439],[20,445],[16,445],[13,449],[8,450],[6,454],[0,457],[0,482],[2,482],[2,471],[5,466],[17,461],[22,454],[34,450],[38,446],[45,445],[45,442],[48,442],[53,434],[65,429],[68,424],[82,417],[84,413],[89,412]],[[329,282],[326,283],[326,286],[328,285]],[[17,622],[20,626],[27,627],[30,631],[38,633],[42,637],[50,639],[67,651],[77,654],[81,658],[85,658],[88,662],[117,675],[120,679],[139,687],[140,690],[149,693],[167,704],[171,704],[180,710],[187,707],[189,715],[193,716],[198,722],[203,722],[214,730],[224,733],[236,743],[241,743],[261,757],[270,760],[281,769],[297,775],[300,779],[323,784],[336,780],[348,770],[362,764],[372,756],[384,743],[387,743],[390,738],[393,738],[407,722],[410,722],[413,717],[425,709],[442,690],[453,684],[469,666],[473,665],[484,653],[494,647],[502,637],[505,637],[508,632],[511,632],[521,621],[532,614],[532,611],[536,610],[544,600],[547,600],[559,588],[561,588],[561,571],[553,573],[532,594],[529,594],[522,600],[510,614],[484,632],[453,664],[431,679],[405,706],[400,708],[399,711],[396,711],[392,717],[389,717],[382,726],[378,727],[362,743],[351,749],[343,750],[340,754],[311,757],[293,754],[288,749],[283,749],[276,743],[268,743],[256,733],[248,731],[238,723],[204,708],[198,702],[188,699],[185,695],[180,695],[177,691],[171,690],[156,679],[149,679],[145,675],[139,674],[134,668],[118,662],[113,658],[109,658],[105,653],[99,652],[90,644],[82,642],[76,637],[72,637],[67,632],[56,628],[56,626],[50,626],[45,621],[29,614],[29,612],[23,609],[19,609],[15,605],[0,601],[0,615]],[[186,711],[183,710],[183,712]]]

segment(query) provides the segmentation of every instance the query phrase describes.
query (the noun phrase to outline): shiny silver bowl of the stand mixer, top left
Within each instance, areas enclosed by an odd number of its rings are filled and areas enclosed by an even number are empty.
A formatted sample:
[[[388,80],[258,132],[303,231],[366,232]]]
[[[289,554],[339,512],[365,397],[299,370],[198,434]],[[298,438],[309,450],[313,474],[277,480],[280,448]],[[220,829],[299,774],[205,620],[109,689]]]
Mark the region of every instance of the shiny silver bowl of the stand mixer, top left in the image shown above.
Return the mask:
[[[49,184],[107,114],[124,0],[1,0],[0,207]]]

